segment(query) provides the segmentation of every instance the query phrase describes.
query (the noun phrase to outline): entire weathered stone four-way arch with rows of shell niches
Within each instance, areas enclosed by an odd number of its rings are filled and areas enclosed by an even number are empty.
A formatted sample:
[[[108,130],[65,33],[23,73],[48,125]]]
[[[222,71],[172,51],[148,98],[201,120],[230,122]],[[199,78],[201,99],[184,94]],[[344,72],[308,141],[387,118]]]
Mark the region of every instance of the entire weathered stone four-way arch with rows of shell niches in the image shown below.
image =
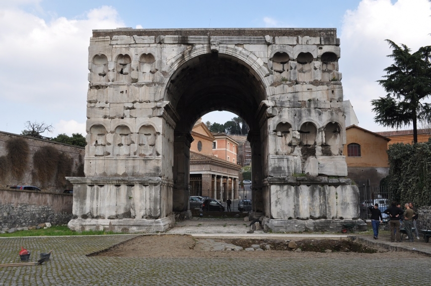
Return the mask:
[[[156,232],[190,217],[190,132],[215,110],[250,127],[251,217],[273,231],[356,221],[339,55],[335,29],[94,30],[69,228]]]

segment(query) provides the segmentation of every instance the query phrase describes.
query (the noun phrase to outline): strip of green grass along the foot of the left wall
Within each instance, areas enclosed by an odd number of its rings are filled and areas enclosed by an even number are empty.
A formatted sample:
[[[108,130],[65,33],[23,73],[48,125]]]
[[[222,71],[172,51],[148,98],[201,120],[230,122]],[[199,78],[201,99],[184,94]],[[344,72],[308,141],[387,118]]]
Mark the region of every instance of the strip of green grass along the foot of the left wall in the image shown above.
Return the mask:
[[[108,235],[108,234],[126,234],[112,231],[83,231],[76,232],[70,230],[67,226],[53,226],[49,229],[17,231],[14,233],[0,234],[0,237],[27,237],[27,236],[74,236],[74,235]]]

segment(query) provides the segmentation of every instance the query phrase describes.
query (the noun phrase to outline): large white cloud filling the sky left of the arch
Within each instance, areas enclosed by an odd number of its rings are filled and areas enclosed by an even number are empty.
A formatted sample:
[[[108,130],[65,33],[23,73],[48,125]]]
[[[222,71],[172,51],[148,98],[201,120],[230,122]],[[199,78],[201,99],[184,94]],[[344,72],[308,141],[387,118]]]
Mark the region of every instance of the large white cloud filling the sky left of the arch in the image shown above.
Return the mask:
[[[86,121],[92,29],[115,29],[124,23],[107,6],[93,9],[83,18],[57,17],[46,22],[24,10],[2,9],[0,101],[4,106],[0,107],[0,122],[8,122],[11,132],[22,129],[22,122],[14,127],[10,119],[17,110],[25,117],[23,122]]]

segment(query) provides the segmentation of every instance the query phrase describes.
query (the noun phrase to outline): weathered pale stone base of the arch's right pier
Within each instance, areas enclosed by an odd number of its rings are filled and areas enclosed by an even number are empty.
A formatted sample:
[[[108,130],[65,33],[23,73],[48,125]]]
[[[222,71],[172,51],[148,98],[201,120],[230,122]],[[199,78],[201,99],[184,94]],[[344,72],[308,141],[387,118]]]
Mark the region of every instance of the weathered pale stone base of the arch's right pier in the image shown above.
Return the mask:
[[[264,229],[273,232],[329,231],[367,225],[358,218],[359,190],[350,179],[269,177],[262,188]],[[252,217],[261,216],[252,213]]]

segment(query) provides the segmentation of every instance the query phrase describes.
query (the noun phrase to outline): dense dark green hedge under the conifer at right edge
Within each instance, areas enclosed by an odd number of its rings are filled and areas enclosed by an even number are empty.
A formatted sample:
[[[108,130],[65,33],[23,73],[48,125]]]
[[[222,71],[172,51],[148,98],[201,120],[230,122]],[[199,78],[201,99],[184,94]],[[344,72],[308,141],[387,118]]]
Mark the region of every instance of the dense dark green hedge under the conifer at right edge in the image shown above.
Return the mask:
[[[431,138],[417,144],[393,144],[388,150],[386,183],[392,198],[415,206],[431,205]]]

